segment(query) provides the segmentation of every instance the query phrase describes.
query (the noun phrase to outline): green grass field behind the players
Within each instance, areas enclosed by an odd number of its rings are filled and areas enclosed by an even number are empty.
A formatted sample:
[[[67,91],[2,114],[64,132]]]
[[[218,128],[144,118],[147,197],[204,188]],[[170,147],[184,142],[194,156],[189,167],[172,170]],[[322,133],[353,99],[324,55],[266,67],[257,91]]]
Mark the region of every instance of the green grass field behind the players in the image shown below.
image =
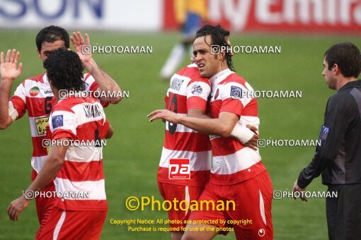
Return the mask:
[[[36,31],[1,30],[0,51],[16,47],[21,52],[23,74],[13,83],[42,73],[42,63],[35,52]],[[167,218],[166,212],[125,208],[130,196],[154,196],[161,200],[156,171],[164,140],[164,124],[149,123],[147,114],[164,106],[168,83],[159,71],[168,52],[178,40],[176,33],[125,34],[89,32],[91,44],[151,45],[153,54],[96,54],[94,59],[130,98],[108,107],[105,113],[115,134],[104,148],[105,182],[109,203],[102,239],[170,239],[164,232],[128,232],[125,225],[110,220]],[[255,90],[302,90],[301,99],[259,99],[260,138],[317,139],[326,101],[333,94],[322,76],[323,53],[336,42],[345,40],[361,47],[356,37],[233,35],[234,45],[280,45],[281,54],[236,54],[237,73]],[[188,59],[187,59],[188,60]],[[184,64],[188,64],[185,61]],[[2,96],[0,96],[2,97]],[[19,222],[11,222],[6,209],[30,184],[32,152],[28,116],[0,131],[0,239],[34,239],[38,229],[35,201]],[[301,169],[313,157],[314,148],[268,147],[260,150],[273,180],[274,190],[291,191]],[[309,191],[325,191],[316,179]],[[275,239],[327,239],[324,199],[273,200]],[[216,239],[235,239],[234,233]]]

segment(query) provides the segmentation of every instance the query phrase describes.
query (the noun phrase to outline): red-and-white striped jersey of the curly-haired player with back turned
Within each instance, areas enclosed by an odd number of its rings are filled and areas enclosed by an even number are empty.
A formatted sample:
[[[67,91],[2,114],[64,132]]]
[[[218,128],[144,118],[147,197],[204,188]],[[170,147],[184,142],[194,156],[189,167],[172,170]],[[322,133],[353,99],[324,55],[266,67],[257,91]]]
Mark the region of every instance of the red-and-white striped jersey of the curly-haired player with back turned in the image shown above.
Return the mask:
[[[69,138],[78,143],[68,147],[64,164],[55,177],[55,189],[64,196],[59,201],[59,208],[108,210],[103,146],[94,144],[101,143],[109,128],[101,103],[90,97],[60,100],[52,109],[49,125],[52,141]],[[66,193],[74,196],[86,193],[88,198],[74,198],[66,196]]]

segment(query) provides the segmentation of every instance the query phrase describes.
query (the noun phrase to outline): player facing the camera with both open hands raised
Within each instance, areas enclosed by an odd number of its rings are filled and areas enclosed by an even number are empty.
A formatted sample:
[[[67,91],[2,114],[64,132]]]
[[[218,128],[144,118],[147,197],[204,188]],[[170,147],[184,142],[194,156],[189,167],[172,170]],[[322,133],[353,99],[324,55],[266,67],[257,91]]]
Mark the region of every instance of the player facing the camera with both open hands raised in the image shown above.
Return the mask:
[[[84,68],[89,72],[84,74],[85,90],[120,91],[118,84],[96,64],[92,55],[85,55],[81,52],[82,47],[89,44],[88,35],[86,35],[86,40],[84,40],[80,32],[74,32],[71,42],[73,42],[74,49],[79,54]],[[49,26],[40,30],[36,37],[36,44],[39,58],[45,61],[53,50],[59,47],[70,48],[69,34],[63,28]],[[4,54],[2,56],[4,59]],[[42,140],[46,137],[46,126],[56,99],[50,88],[47,74],[40,74],[39,76],[25,79],[21,85],[18,85],[13,97],[9,100],[13,80],[21,74],[22,66],[16,69],[18,57],[19,53],[16,53],[15,49],[12,52],[8,50],[6,59],[1,61],[0,95],[2,97],[0,98],[0,129],[7,128],[13,121],[20,119],[25,112],[28,112],[33,141],[33,157],[31,158],[31,165],[33,167],[31,179],[33,181],[47,157],[47,148],[42,145]],[[120,98],[101,99],[103,106],[119,101]],[[53,191],[54,188],[54,184],[50,183],[43,190]],[[38,220],[42,224],[42,221],[46,221],[49,212],[51,212],[52,199],[39,197],[35,201]]]

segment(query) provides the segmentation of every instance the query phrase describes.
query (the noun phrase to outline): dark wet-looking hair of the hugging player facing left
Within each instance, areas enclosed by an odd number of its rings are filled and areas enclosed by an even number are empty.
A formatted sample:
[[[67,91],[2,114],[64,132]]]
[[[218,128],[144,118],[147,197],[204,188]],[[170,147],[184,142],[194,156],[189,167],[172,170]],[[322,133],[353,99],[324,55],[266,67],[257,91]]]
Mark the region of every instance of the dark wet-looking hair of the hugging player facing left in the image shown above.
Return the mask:
[[[206,42],[207,45],[217,45],[219,47],[225,47],[226,49],[229,48],[227,37],[229,37],[230,32],[229,30],[225,30],[224,28],[222,28],[221,25],[204,25],[202,28],[197,30],[195,38],[203,36],[206,37],[207,35],[210,35],[212,39],[212,42]],[[224,60],[227,61],[228,68],[231,69],[231,71],[235,71],[230,51],[225,52]]]

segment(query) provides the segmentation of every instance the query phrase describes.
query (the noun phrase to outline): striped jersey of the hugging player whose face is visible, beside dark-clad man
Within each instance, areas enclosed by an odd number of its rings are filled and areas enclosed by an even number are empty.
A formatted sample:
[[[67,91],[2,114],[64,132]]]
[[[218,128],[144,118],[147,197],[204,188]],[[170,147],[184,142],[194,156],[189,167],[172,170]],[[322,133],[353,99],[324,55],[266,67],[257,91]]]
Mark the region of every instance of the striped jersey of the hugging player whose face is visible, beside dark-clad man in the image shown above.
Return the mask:
[[[240,117],[239,122],[258,128],[258,105],[253,89],[246,80],[226,69],[210,78],[212,97],[210,116],[217,119],[220,112],[231,112]],[[212,174],[214,184],[236,184],[251,179],[265,170],[258,151],[246,148],[236,138],[211,137]]]

